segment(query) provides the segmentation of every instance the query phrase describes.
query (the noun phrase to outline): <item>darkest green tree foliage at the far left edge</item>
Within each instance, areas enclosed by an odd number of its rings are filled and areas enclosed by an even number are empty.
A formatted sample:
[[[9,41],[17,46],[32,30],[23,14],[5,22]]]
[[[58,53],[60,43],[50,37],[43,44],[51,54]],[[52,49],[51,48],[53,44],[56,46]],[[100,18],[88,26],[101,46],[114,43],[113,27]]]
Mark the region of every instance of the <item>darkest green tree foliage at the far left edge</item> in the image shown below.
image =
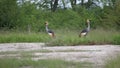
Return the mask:
[[[17,23],[18,9],[16,0],[0,1],[0,27],[14,28]]]

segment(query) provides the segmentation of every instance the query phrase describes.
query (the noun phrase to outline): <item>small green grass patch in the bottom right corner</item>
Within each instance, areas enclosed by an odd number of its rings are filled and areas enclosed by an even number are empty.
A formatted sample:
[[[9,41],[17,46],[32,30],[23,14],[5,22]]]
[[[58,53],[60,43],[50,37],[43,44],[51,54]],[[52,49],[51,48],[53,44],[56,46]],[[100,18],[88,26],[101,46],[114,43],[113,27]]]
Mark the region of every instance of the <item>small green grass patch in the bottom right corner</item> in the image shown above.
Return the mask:
[[[104,68],[120,68],[120,55],[108,60]]]

